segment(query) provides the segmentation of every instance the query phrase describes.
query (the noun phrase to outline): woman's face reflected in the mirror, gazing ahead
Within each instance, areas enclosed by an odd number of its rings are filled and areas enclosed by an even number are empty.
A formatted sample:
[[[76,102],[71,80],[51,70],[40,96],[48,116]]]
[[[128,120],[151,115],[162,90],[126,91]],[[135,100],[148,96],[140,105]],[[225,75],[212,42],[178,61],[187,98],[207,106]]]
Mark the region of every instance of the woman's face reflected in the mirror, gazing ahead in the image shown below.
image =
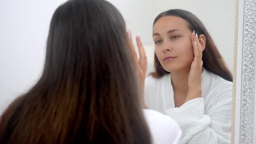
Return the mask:
[[[155,53],[168,71],[188,70],[194,59],[189,23],[178,16],[164,16],[153,27]]]

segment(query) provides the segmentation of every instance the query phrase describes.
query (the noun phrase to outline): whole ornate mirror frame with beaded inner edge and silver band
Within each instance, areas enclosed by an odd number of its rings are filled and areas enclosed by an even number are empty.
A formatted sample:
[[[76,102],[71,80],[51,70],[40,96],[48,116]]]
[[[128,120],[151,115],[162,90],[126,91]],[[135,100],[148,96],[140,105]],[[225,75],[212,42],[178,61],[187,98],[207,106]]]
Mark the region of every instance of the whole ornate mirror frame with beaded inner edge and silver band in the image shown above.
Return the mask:
[[[254,111],[256,0],[236,0],[235,11],[234,91],[231,143],[253,144],[256,143],[254,141],[254,133],[256,132],[256,130],[254,130],[256,127],[254,125],[254,113],[256,112]],[[240,119],[238,119],[238,116]]]

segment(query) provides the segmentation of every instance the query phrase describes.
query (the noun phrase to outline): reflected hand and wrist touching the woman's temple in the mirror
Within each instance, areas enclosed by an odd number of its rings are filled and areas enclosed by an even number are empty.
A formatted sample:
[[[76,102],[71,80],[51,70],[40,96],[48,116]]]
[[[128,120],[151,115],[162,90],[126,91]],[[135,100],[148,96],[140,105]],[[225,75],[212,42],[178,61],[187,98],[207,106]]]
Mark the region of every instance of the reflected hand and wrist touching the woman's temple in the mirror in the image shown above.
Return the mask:
[[[188,95],[185,99],[185,102],[194,99],[200,98],[202,96],[201,89],[201,74],[202,74],[202,47],[198,41],[197,34],[195,31],[191,34],[191,41],[193,45],[193,52],[195,55],[194,61],[191,64],[191,70],[188,77]]]

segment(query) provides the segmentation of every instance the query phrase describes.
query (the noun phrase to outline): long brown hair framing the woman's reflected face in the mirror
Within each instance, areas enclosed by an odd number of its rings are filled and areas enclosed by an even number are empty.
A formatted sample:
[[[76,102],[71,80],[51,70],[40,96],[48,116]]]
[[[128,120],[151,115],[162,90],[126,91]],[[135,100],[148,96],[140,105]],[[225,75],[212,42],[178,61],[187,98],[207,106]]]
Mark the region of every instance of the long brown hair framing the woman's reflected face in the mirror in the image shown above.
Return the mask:
[[[160,13],[156,18],[153,23],[158,21],[159,18],[163,16],[178,16],[180,18],[185,19],[189,23],[189,29],[191,31],[195,30],[195,32],[198,34],[203,34],[206,39],[205,43],[205,49],[202,53],[202,61],[203,61],[203,67],[214,73],[217,74],[218,76],[222,77],[223,79],[226,79],[230,82],[233,81],[232,74],[227,67],[224,59],[220,55],[220,52],[218,51],[216,45],[213,42],[213,39],[211,39],[210,34],[200,21],[193,13],[188,12],[186,10],[182,9],[171,9],[167,10],[165,12]],[[156,57],[155,53],[155,59],[154,59],[154,69],[155,71],[150,73],[153,77],[155,78],[160,78],[164,76],[165,74],[168,74],[168,71],[165,71],[162,65],[160,64],[158,58]]]

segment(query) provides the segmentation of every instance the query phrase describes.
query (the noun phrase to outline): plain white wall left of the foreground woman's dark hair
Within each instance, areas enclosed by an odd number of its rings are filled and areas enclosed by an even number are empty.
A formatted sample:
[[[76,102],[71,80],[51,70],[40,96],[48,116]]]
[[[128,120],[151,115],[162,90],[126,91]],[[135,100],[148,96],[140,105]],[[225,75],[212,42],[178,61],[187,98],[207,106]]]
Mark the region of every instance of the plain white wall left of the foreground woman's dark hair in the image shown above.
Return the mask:
[[[0,114],[40,77],[51,17],[62,2],[0,1]]]

